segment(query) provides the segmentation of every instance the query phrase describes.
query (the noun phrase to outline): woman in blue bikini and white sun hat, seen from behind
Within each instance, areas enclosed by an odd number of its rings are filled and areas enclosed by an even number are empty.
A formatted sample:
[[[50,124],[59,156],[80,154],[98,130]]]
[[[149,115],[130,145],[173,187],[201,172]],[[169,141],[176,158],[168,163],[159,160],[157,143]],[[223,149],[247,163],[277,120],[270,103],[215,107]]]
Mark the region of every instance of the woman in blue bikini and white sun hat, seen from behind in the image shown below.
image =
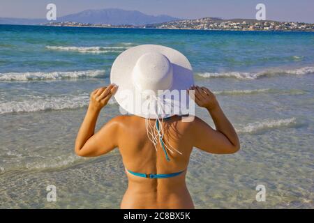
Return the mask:
[[[156,45],[133,48],[114,62],[112,82],[118,82],[119,91],[121,87],[128,88],[149,100],[149,105],[157,105],[157,109],[153,109],[157,112],[152,114],[147,107],[144,112],[138,112],[126,106],[135,102],[130,98],[122,102],[122,94],[116,94],[116,84],[96,89],[91,93],[87,114],[77,134],[75,153],[94,157],[119,148],[128,177],[121,208],[194,208],[185,182],[193,147],[208,153],[235,153],[239,150],[237,133],[209,89],[195,85],[185,88],[193,82],[193,78],[190,79],[193,73],[183,54]],[[155,102],[160,94],[155,90],[160,89],[188,90],[196,104],[207,109],[216,130],[194,116],[186,121],[181,112],[167,114],[161,109],[161,114],[158,113],[159,104]],[[153,93],[143,96],[145,90],[153,90]],[[112,118],[94,133],[98,114],[112,95],[133,115]],[[171,105],[174,104],[172,100]]]

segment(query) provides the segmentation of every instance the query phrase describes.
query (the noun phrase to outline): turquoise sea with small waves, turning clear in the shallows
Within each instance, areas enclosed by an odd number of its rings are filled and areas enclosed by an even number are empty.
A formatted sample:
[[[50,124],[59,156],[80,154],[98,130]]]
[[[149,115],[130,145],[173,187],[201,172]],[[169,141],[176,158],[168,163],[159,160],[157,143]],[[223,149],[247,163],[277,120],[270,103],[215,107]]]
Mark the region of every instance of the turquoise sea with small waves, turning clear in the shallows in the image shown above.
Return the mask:
[[[119,208],[119,152],[86,159],[73,146],[89,92],[142,44],[184,53],[239,132],[239,153],[193,151],[196,208],[314,208],[314,33],[0,25],[1,208]],[[97,128],[118,114],[110,101]],[[265,202],[255,200],[259,184]],[[47,185],[57,202],[47,202]]]

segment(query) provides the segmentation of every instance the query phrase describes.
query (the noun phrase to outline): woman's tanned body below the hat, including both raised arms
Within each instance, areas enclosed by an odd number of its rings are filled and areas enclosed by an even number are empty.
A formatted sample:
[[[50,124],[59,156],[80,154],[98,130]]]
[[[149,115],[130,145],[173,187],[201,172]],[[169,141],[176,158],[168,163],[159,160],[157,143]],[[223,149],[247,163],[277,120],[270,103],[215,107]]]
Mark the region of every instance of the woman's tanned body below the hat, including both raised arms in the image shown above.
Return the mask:
[[[237,133],[223,114],[214,94],[208,89],[193,87],[195,102],[208,110],[216,130],[197,117],[187,120],[172,116],[156,122],[140,116],[117,116],[95,133],[100,109],[115,91],[117,87],[110,85],[91,93],[89,109],[75,141],[75,153],[94,157],[119,148],[128,176],[128,190],[121,208],[194,208],[185,182],[193,146],[217,154],[239,150]],[[151,140],[149,126],[158,132],[155,134],[158,140]],[[138,176],[139,173],[142,176]],[[177,176],[147,178],[146,174]]]

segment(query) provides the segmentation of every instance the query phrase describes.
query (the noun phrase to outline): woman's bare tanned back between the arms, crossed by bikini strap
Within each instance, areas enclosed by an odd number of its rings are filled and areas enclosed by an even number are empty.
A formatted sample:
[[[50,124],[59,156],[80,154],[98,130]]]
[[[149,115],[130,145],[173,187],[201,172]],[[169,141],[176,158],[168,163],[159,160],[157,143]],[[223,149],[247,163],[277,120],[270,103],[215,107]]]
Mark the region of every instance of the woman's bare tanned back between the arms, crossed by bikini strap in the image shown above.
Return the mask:
[[[147,137],[145,119],[139,116],[119,116],[119,151],[122,155],[128,190],[124,194],[121,208],[194,208],[186,188],[185,176],[188,168],[193,140],[190,137],[193,122],[183,122],[180,116],[173,116],[163,121],[164,141],[177,151],[156,148]],[[149,120],[151,125],[156,120]],[[143,178],[130,174],[128,170],[144,174],[171,174],[184,171],[170,178]]]

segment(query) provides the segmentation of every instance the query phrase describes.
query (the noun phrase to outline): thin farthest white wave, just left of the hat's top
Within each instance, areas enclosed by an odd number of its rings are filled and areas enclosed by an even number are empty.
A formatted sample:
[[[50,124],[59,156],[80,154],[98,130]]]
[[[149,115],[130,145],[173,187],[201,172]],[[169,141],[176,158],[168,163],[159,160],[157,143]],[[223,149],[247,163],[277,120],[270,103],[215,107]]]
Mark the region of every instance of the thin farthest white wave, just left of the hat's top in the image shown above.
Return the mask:
[[[105,53],[119,53],[123,52],[129,47],[62,47],[62,46],[46,46],[47,49],[61,50],[61,51],[75,51],[80,53],[91,54],[105,54]]]

